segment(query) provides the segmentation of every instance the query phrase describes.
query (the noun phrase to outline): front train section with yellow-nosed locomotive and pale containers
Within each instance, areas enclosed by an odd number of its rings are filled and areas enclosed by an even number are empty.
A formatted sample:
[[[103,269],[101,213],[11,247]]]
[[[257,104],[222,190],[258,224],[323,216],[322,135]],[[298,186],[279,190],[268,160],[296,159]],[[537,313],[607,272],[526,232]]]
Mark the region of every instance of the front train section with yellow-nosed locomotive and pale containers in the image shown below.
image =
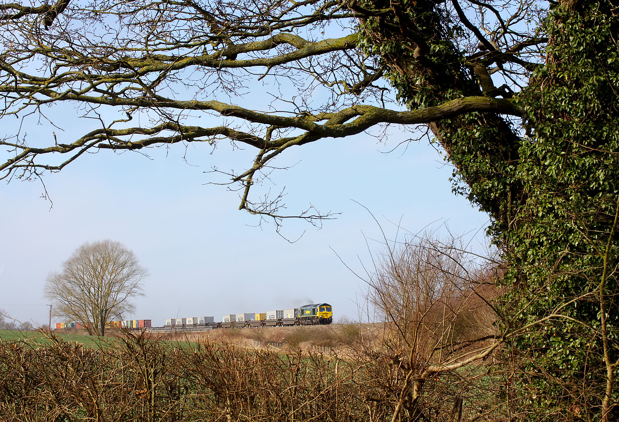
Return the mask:
[[[292,325],[319,325],[333,322],[333,309],[329,303],[311,303],[281,311],[264,313],[242,313],[222,315],[222,322],[215,323],[212,316],[190,318],[168,318],[165,328],[183,329],[183,327],[273,327]]]

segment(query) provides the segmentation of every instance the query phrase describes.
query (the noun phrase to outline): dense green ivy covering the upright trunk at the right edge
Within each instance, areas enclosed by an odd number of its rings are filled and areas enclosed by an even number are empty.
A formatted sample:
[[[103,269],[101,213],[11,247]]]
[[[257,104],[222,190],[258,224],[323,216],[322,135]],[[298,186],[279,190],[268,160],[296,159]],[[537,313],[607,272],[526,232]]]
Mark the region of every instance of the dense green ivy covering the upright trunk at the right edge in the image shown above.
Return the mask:
[[[574,419],[599,420],[606,387],[600,302],[610,310],[610,360],[619,357],[617,279],[604,274],[619,248],[619,19],[607,2],[582,7],[558,7],[547,19],[548,62],[520,98],[533,130],[517,167],[528,197],[518,229],[503,235],[516,288],[507,299],[521,312],[519,324],[553,310],[563,315],[517,338],[520,350],[532,351],[531,376],[523,378],[536,397],[530,402],[555,413],[585,403]]]

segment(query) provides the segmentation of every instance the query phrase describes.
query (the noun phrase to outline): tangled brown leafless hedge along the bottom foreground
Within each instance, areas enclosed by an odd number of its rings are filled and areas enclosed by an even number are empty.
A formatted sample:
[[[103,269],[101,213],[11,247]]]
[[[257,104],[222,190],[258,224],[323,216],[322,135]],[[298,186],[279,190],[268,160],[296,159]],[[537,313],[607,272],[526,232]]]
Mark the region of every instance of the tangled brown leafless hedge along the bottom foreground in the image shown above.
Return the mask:
[[[384,421],[406,375],[388,353],[283,354],[128,333],[113,347],[49,340],[0,342],[1,420]],[[441,393],[432,415],[449,415],[468,378],[428,381]]]

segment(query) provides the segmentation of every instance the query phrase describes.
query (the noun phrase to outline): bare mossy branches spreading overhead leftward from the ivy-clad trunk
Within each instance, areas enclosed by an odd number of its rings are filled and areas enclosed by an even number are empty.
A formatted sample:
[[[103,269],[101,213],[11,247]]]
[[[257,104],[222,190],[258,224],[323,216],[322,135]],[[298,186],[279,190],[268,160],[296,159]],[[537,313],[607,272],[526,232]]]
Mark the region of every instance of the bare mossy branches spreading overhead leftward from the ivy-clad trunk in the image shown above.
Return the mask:
[[[396,93],[382,80],[389,68],[404,71],[409,57],[396,64],[378,59],[363,45],[368,34],[362,37],[358,30],[360,20],[383,17],[394,6],[368,7],[331,0],[2,2],[0,118],[38,116],[43,123],[48,107],[77,104],[76,116],[90,119],[92,130],[70,138],[53,127],[66,123],[54,121],[48,137],[27,140],[20,127],[0,139],[9,151],[0,160],[0,178],[38,179],[89,151],[218,145],[228,139],[256,150],[254,162],[225,180],[240,188],[240,209],[277,219],[284,217],[278,213],[282,197],[253,200],[249,190],[268,177],[269,163],[288,148],[380,124],[428,124],[470,111],[521,115],[512,99],[495,98],[510,93],[495,88],[488,72],[519,80],[542,57],[545,40],[513,28],[522,20],[539,22],[529,1],[437,2],[433,7],[449,19],[464,16],[464,9],[469,14],[464,25],[477,25],[446,42],[469,50],[471,75],[474,67],[485,78],[472,82],[477,90],[467,95],[444,100],[438,95],[435,104],[410,111],[396,105]],[[443,36],[439,28],[428,30],[415,43]],[[407,35],[397,29],[386,40],[400,43]],[[476,52],[478,42],[484,47]],[[427,44],[417,48],[415,61],[422,62],[427,50]],[[265,100],[248,104],[244,94],[250,92]],[[311,208],[295,216],[326,217]]]

